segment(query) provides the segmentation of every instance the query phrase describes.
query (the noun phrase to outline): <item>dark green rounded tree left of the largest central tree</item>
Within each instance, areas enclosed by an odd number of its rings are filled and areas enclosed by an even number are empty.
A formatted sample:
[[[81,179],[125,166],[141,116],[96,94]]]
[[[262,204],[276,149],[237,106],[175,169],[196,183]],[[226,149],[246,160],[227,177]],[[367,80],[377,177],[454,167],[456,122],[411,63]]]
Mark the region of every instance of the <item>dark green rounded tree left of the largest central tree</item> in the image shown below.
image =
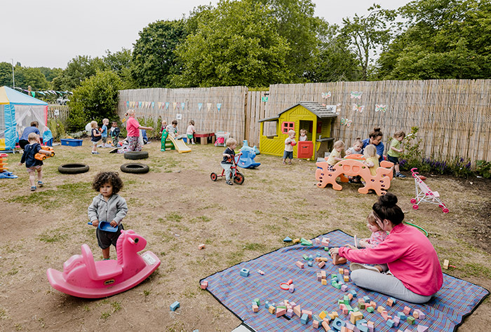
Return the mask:
[[[166,87],[180,71],[174,50],[187,35],[183,20],[150,23],[139,35],[133,48],[133,79],[140,88]]]

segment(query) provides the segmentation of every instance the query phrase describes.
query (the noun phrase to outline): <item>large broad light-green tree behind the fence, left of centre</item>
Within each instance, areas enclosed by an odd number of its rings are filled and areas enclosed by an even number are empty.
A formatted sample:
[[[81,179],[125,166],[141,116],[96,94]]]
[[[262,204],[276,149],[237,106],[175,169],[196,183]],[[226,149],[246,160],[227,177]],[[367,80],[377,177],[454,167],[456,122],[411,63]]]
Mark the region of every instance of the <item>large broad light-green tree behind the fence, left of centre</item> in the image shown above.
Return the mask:
[[[290,81],[288,42],[271,10],[254,0],[221,0],[177,47],[182,74],[177,87],[267,86]]]

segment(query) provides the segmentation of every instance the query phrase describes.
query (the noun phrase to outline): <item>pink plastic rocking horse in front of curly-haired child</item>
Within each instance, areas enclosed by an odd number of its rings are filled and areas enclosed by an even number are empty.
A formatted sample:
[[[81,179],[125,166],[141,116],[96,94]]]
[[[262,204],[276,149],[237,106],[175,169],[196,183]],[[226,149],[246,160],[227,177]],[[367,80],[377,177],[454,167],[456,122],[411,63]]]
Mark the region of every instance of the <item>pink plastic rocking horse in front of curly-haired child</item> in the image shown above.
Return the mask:
[[[79,298],[105,298],[127,291],[159,268],[160,259],[152,251],[137,254],[146,245],[147,240],[133,230],[121,230],[117,261],[94,261],[88,245],[82,244],[82,254],[63,263],[63,272],[48,268],[48,282],[54,289]]]

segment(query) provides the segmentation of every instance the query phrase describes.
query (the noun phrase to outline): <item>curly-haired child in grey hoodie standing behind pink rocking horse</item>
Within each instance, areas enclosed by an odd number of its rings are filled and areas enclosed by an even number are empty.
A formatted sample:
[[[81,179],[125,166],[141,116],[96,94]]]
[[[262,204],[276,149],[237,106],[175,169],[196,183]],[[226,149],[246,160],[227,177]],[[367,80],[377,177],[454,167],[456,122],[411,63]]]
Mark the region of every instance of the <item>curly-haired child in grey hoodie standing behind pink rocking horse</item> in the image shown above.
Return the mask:
[[[111,223],[111,226],[118,227],[117,232],[107,232],[98,227],[95,231],[97,244],[102,249],[102,257],[107,260],[109,259],[111,244],[116,247],[121,230],[124,229],[121,221],[128,213],[126,200],[118,195],[123,188],[123,181],[117,172],[99,172],[94,177],[92,188],[100,193],[93,198],[88,207],[88,218],[92,225],[97,227],[99,221],[107,221]]]

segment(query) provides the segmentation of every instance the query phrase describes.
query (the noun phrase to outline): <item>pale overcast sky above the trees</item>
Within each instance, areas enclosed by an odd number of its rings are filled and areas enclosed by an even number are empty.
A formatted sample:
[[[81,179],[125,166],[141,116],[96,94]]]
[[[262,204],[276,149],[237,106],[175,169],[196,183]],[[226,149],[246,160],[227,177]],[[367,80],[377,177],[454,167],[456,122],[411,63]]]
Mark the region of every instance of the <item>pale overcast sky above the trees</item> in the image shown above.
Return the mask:
[[[375,1],[312,0],[316,15],[330,23],[355,13],[364,15]],[[376,1],[394,9],[409,0]],[[23,67],[67,67],[77,55],[102,57],[132,48],[138,32],[156,20],[189,16],[196,6],[217,0],[2,0],[0,4],[0,62]]]

